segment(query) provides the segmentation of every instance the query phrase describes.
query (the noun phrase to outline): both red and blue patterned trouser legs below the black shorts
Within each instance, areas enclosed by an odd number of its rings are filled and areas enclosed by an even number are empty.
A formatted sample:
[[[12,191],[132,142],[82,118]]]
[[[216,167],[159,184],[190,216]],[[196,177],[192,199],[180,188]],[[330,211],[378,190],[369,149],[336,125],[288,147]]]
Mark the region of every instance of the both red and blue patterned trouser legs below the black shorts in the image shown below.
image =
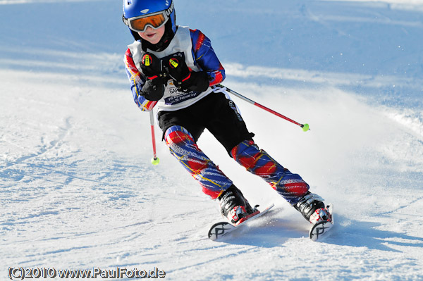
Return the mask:
[[[168,128],[165,140],[171,154],[183,164],[200,183],[203,192],[212,199],[216,199],[221,192],[232,185],[232,181],[198,148],[190,132],[185,128],[178,126]],[[262,177],[290,204],[297,203],[298,198],[309,189],[300,175],[283,168],[266,151],[259,149],[252,139],[235,146],[231,156],[247,171]]]

